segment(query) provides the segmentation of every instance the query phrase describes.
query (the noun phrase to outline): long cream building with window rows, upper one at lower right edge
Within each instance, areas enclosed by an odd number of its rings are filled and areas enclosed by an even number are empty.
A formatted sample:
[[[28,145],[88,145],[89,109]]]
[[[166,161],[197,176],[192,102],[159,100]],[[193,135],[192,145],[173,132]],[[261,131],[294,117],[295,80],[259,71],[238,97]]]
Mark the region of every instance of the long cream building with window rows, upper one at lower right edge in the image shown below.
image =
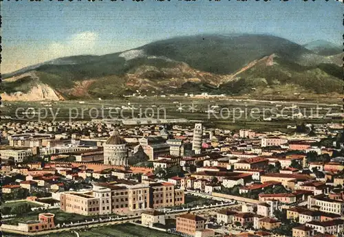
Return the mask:
[[[323,212],[330,212],[338,215],[344,214],[344,201],[329,199],[325,194],[308,196],[308,208],[319,208]]]

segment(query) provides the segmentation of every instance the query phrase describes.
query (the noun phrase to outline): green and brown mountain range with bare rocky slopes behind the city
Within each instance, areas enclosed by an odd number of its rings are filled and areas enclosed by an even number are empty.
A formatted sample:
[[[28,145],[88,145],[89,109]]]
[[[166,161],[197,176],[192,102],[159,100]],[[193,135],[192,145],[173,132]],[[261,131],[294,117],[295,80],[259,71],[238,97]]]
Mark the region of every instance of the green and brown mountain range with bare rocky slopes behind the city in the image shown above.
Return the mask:
[[[260,96],[341,93],[343,51],[263,34],[203,34],[105,54],[57,58],[3,74],[3,100],[114,98],[140,91]]]

